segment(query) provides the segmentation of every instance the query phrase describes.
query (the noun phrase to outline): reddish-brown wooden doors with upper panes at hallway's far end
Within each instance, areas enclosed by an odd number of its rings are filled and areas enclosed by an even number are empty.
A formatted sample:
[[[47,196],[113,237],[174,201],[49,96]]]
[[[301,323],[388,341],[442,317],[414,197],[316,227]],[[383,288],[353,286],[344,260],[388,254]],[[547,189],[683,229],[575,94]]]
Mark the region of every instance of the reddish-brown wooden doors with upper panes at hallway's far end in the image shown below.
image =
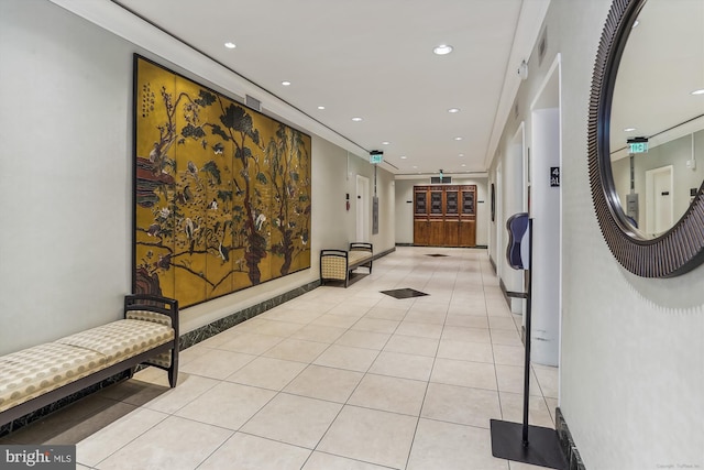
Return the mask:
[[[476,186],[415,186],[414,244],[475,247]]]

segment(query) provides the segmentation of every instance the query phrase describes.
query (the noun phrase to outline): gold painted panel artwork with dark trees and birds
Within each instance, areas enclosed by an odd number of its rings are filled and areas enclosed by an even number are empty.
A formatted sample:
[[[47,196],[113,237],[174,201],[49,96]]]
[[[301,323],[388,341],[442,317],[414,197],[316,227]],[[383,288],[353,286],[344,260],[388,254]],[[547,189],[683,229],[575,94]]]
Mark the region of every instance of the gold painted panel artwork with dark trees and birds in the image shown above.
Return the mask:
[[[134,66],[133,291],[189,306],[310,267],[310,136]]]

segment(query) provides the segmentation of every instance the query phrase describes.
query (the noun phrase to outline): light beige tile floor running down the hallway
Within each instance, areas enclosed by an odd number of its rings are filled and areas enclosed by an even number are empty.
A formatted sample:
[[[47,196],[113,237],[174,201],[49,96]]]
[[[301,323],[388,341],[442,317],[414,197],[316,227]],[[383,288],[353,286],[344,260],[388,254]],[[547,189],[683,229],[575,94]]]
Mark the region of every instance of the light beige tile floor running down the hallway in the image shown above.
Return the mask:
[[[405,287],[430,295],[380,293]],[[491,449],[490,419],[522,419],[520,320],[485,250],[402,247],[183,351],[176,389],[147,368],[0,444],[101,470],[538,469]],[[534,364],[532,425],[554,427],[557,387]]]

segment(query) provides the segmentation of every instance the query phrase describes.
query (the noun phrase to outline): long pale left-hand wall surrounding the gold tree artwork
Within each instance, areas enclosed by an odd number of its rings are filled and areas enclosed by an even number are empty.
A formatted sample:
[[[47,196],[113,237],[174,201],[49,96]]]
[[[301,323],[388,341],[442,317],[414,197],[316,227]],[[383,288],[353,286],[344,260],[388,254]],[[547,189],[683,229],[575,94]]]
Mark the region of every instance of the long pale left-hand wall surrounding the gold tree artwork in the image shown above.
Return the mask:
[[[208,67],[198,77],[48,1],[0,2],[0,354],[121,315],[132,276],[134,52],[243,95],[209,81]],[[311,269],[186,308],[182,332],[318,280],[319,250],[354,238],[346,160],[312,135]],[[377,178],[386,221],[373,242],[384,251],[394,247],[394,187],[388,172]]]

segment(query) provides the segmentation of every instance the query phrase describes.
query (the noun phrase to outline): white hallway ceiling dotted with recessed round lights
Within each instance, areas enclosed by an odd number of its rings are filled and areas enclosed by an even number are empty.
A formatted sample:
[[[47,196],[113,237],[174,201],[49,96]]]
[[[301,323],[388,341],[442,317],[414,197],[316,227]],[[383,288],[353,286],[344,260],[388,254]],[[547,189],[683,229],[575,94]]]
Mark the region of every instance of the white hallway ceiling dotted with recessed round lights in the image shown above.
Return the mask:
[[[250,95],[265,112],[275,113],[267,109],[273,95],[343,138],[358,155],[383,151],[382,166],[400,176],[486,171],[520,83],[518,67],[548,4],[119,0],[111,8],[129,10],[255,84],[261,96]],[[226,42],[237,47],[226,48]],[[439,44],[454,51],[435,55]]]

